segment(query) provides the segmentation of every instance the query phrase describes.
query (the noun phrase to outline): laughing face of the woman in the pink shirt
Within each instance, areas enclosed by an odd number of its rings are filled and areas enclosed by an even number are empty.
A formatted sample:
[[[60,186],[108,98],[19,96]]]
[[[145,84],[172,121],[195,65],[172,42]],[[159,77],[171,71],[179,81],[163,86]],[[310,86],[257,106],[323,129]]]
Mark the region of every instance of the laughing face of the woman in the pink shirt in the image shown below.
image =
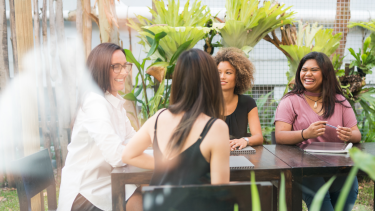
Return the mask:
[[[302,85],[307,91],[314,93],[321,92],[323,75],[315,59],[309,59],[303,64],[300,72],[300,79]]]

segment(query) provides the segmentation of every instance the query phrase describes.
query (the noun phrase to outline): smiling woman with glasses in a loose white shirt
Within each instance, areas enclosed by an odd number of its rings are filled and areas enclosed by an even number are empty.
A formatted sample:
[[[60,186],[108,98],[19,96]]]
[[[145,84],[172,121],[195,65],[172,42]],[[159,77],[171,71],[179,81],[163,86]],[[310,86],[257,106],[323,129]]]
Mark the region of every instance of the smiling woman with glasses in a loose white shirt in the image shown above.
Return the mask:
[[[122,151],[135,134],[123,108],[125,100],[118,95],[132,68],[124,50],[102,43],[90,53],[87,67],[97,88],[80,99],[62,170],[58,207],[62,211],[112,209],[111,171],[125,165]],[[136,186],[126,188],[126,193],[133,193]],[[138,192],[128,205],[137,197],[141,197]]]

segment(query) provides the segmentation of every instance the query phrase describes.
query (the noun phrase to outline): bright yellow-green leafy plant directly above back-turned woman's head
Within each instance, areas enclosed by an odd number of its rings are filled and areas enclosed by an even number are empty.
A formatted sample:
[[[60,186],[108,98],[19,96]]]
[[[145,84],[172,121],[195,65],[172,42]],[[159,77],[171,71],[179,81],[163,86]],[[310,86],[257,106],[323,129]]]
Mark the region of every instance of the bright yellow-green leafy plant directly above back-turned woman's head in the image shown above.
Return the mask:
[[[153,39],[154,35],[144,29],[148,29],[154,34],[166,30],[165,32],[168,35],[160,40],[159,46],[165,52],[167,61],[171,59],[179,45],[193,39],[191,46],[189,46],[189,48],[192,48],[209,32],[208,28],[203,26],[211,19],[211,12],[206,5],[201,5],[201,1],[195,0],[193,4],[190,4],[188,0],[181,12],[179,12],[179,0],[168,0],[167,7],[164,1],[153,0],[153,2],[155,4],[155,11],[149,8],[150,13],[154,17],[153,20],[148,20],[138,15],[138,23],[129,19],[128,24],[129,27],[139,33],[138,37],[141,39],[139,44],[144,47],[145,52],[149,52],[152,45],[149,38]],[[202,35],[203,32],[205,34]],[[165,57],[160,54],[160,51],[156,51],[151,56],[151,59],[156,60],[159,58],[164,61]]]

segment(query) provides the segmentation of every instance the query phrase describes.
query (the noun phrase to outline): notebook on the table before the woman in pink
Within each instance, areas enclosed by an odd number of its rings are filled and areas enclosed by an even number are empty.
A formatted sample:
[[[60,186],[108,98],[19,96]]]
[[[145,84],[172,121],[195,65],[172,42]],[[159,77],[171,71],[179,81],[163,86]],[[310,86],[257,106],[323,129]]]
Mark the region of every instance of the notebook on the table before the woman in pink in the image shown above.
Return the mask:
[[[305,152],[312,153],[348,153],[352,146],[352,143],[313,142],[310,144],[302,144],[300,148]]]

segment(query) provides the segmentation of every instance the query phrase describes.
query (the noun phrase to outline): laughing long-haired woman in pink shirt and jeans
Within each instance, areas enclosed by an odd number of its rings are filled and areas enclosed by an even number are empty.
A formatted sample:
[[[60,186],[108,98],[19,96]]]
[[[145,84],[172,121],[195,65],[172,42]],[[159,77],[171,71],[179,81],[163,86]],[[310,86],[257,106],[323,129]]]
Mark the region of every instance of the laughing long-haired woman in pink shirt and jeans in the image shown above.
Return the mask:
[[[326,127],[326,124],[337,129]],[[275,136],[278,144],[311,142],[352,142],[361,140],[357,120],[343,96],[333,65],[324,53],[311,52],[302,58],[295,76],[295,86],[276,110]],[[329,178],[302,180],[302,198],[310,208],[315,193]],[[326,193],[321,210],[332,210],[346,177],[337,177]],[[344,210],[351,210],[358,194],[353,182]]]

